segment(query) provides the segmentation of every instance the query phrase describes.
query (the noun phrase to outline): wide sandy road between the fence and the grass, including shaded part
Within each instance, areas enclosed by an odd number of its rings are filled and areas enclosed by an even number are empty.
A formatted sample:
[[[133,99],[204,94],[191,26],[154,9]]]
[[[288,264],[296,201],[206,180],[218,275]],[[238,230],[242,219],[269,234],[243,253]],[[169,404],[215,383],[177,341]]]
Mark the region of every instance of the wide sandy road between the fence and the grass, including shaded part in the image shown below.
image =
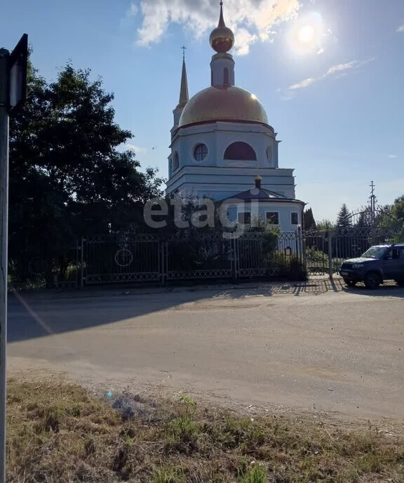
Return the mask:
[[[288,290],[286,290],[288,291]],[[106,390],[404,416],[404,290],[260,288],[11,297],[8,369]]]

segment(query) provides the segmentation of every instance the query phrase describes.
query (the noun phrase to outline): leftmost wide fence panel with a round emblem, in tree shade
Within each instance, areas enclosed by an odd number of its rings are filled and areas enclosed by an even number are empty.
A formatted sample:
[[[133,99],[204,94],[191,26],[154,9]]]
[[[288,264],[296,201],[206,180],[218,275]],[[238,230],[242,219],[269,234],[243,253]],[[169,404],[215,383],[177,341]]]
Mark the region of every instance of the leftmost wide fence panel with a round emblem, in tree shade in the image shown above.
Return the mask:
[[[161,242],[153,235],[97,235],[82,246],[84,284],[161,280]]]

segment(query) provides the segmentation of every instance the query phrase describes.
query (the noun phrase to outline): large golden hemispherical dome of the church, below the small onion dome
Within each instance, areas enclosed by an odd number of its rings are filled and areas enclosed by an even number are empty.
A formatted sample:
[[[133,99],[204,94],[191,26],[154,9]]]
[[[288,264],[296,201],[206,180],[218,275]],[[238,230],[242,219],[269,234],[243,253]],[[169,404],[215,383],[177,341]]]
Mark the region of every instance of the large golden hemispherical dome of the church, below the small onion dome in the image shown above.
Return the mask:
[[[268,124],[264,107],[255,95],[236,86],[208,87],[194,95],[182,111],[179,126],[214,121]]]

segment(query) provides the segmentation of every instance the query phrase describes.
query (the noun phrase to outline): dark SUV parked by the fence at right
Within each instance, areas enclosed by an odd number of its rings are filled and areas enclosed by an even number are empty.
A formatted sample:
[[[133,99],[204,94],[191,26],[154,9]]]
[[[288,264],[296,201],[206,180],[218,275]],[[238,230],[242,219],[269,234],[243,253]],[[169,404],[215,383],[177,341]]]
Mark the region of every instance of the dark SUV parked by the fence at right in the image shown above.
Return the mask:
[[[404,243],[371,246],[359,258],[345,260],[339,274],[349,286],[365,282],[368,289],[377,289],[389,279],[404,286]]]

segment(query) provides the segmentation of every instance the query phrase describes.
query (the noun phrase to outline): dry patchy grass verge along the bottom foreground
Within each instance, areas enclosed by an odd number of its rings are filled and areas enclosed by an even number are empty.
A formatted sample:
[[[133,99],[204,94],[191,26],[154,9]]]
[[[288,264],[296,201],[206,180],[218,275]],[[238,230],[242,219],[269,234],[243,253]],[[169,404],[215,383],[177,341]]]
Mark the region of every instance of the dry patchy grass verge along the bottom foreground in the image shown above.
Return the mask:
[[[372,425],[252,421],[189,397],[113,403],[77,385],[10,381],[8,483],[404,482],[403,438]]]

